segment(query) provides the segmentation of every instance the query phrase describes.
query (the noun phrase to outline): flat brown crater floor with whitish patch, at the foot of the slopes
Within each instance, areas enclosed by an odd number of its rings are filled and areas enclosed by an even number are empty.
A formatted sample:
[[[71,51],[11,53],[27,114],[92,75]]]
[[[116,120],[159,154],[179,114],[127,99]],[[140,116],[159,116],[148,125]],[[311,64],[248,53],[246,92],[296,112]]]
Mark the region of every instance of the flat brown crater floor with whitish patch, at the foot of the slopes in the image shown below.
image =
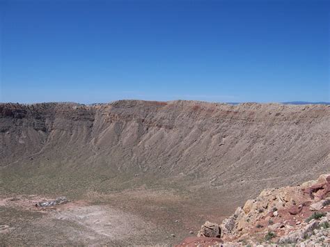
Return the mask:
[[[170,191],[139,189],[109,195],[89,192],[86,198],[42,208],[36,207],[36,202],[54,198],[1,198],[0,242],[166,246],[178,244],[192,232],[196,234],[204,221],[188,196]]]

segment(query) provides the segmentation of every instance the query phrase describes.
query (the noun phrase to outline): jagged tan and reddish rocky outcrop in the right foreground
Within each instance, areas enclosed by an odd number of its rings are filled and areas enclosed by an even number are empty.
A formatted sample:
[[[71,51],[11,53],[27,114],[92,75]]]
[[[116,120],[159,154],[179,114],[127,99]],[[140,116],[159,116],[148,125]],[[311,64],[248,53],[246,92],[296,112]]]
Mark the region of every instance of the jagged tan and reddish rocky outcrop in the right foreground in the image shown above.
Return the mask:
[[[207,225],[212,224],[215,225],[207,221]],[[202,225],[201,230],[204,228]],[[233,216],[223,220],[220,231],[222,246],[329,245],[330,175],[321,175],[318,180],[299,186],[262,191],[255,200],[247,200],[244,207],[238,207]],[[201,246],[207,244],[205,241]]]

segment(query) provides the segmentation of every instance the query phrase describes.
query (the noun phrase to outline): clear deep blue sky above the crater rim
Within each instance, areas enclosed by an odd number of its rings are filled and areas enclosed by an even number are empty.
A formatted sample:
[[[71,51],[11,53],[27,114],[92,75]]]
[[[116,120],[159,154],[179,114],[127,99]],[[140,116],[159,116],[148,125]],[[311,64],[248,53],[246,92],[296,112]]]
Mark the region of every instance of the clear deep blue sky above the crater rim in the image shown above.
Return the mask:
[[[0,0],[0,102],[329,102],[322,0]]]

